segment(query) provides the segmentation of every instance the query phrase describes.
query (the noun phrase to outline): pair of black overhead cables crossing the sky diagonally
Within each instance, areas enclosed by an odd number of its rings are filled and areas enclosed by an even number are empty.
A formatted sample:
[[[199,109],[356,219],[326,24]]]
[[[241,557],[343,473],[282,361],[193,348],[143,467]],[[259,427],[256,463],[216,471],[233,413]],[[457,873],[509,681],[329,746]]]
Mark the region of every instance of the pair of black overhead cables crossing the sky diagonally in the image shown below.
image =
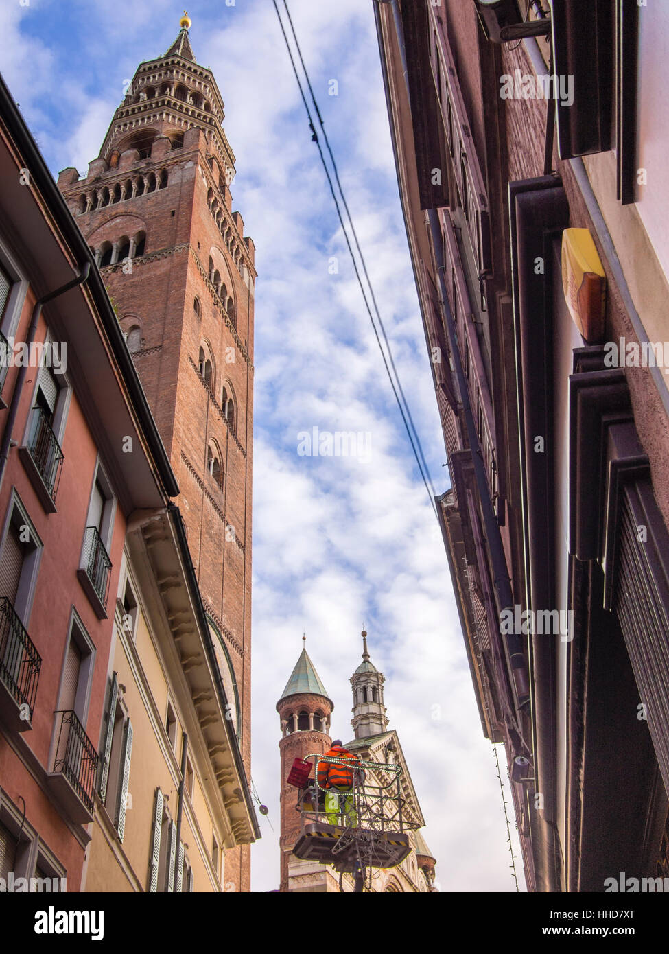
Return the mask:
[[[306,83],[307,83],[307,86],[308,86],[309,93],[310,93],[310,95],[311,95],[311,100],[312,100],[312,102],[313,102],[314,109],[315,109],[316,114],[317,114],[317,116],[318,116],[319,124],[320,124],[320,126],[321,126],[322,131],[323,131],[324,142],[325,142],[325,144],[326,144],[327,151],[328,151],[328,154],[329,154],[329,156],[330,156],[330,160],[331,160],[331,162],[332,162],[332,167],[333,167],[334,176],[335,176],[335,178],[336,178],[337,186],[338,186],[339,191],[340,191],[341,196],[342,196],[342,203],[343,203],[343,205],[344,205],[344,207],[345,207],[345,213],[346,213],[346,216],[347,216],[348,221],[349,221],[349,223],[350,223],[351,234],[353,235],[353,238],[354,238],[354,241],[355,241],[355,245],[356,245],[356,248],[357,248],[357,250],[358,250],[358,254],[359,254],[359,256],[360,256],[360,259],[361,259],[362,268],[363,268],[363,272],[364,272],[364,274],[365,274],[366,282],[367,282],[367,285],[369,286],[369,293],[370,293],[371,301],[372,301],[372,303],[373,303],[374,312],[376,313],[376,318],[377,318],[379,327],[381,328],[381,332],[382,332],[384,341],[386,342],[388,358],[389,358],[389,361],[390,361],[390,364],[389,364],[389,365],[388,365],[388,359],[387,359],[387,357],[386,357],[386,353],[385,353],[385,351],[384,351],[383,344],[382,344],[382,342],[381,342],[381,338],[380,338],[380,336],[379,336],[379,331],[378,331],[378,329],[377,329],[377,324],[376,324],[376,321],[374,320],[374,315],[372,314],[372,310],[371,310],[371,308],[370,308],[370,306],[369,306],[369,301],[367,300],[366,289],[365,289],[365,285],[364,285],[364,283],[363,283],[363,280],[362,280],[362,277],[361,277],[361,274],[360,274],[360,268],[358,267],[358,262],[357,262],[357,260],[356,260],[356,257],[355,257],[355,255],[354,255],[354,253],[353,253],[353,248],[352,248],[352,246],[351,246],[350,239],[348,238],[348,232],[347,232],[347,230],[346,230],[344,217],[343,217],[343,215],[342,215],[342,209],[341,209],[340,202],[339,202],[339,199],[338,199],[338,197],[337,197],[337,194],[336,194],[336,192],[335,192],[335,188],[334,188],[334,184],[333,184],[333,181],[332,181],[332,176],[331,176],[331,174],[330,174],[330,170],[328,169],[327,163],[326,163],[326,161],[325,161],[323,149],[322,149],[322,147],[321,147],[321,141],[320,141],[319,135],[318,135],[318,133],[317,133],[317,131],[316,131],[316,127],[315,127],[315,125],[314,125],[314,118],[313,118],[313,116],[312,116],[312,114],[311,114],[311,111],[310,111],[310,109],[309,109],[309,105],[308,105],[308,103],[307,103],[307,101],[306,101],[306,96],[305,96],[304,90],[303,90],[303,83],[302,83],[302,80],[301,80],[301,78],[300,78],[300,74],[298,73],[298,69],[297,69],[297,66],[296,66],[296,63],[295,63],[295,58],[294,58],[294,56],[293,56],[293,52],[292,52],[292,50],[291,50],[291,48],[290,48],[290,43],[289,43],[289,41],[288,41],[288,37],[287,37],[286,32],[285,32],[285,29],[284,29],[284,27],[283,27],[282,16],[281,16],[281,13],[279,12],[279,7],[277,6],[277,0],[273,0],[273,3],[274,3],[274,10],[276,11],[277,19],[279,20],[279,25],[280,25],[280,27],[281,27],[282,36],[283,36],[283,42],[285,43],[285,48],[286,48],[286,51],[288,52],[288,56],[289,56],[289,58],[290,58],[290,64],[291,64],[291,66],[292,66],[292,68],[293,68],[293,73],[295,74],[295,79],[296,79],[297,84],[298,84],[298,89],[300,90],[300,95],[302,96],[302,101],[303,101],[303,105],[304,105],[304,110],[305,110],[306,115],[307,115],[308,120],[309,120],[309,129],[311,130],[311,138],[312,138],[312,141],[316,143],[316,146],[317,146],[318,151],[319,151],[319,156],[321,157],[321,163],[322,163],[323,168],[324,168],[324,173],[325,173],[325,176],[326,176],[326,178],[327,178],[327,183],[328,183],[328,185],[329,185],[330,193],[331,193],[332,199],[333,199],[333,201],[334,201],[334,203],[335,203],[335,208],[337,209],[337,216],[338,216],[338,218],[339,218],[340,224],[341,224],[341,226],[342,226],[342,231],[343,231],[343,233],[344,233],[344,238],[345,238],[345,242],[346,242],[346,247],[348,248],[348,253],[349,253],[350,257],[351,257],[351,261],[353,262],[353,269],[354,269],[354,271],[355,271],[355,276],[356,276],[356,279],[358,280],[358,284],[359,284],[359,286],[360,286],[360,290],[361,290],[362,295],[363,295],[363,300],[365,301],[366,312],[367,312],[367,315],[369,316],[369,321],[371,322],[371,326],[372,326],[372,329],[373,329],[373,331],[374,331],[374,336],[375,336],[375,338],[376,338],[377,344],[379,345],[379,350],[381,351],[381,356],[382,356],[382,358],[383,358],[384,365],[385,365],[385,367],[386,367],[386,373],[387,373],[388,381],[390,382],[390,386],[391,386],[391,388],[392,388],[392,392],[393,392],[393,394],[394,394],[394,396],[395,396],[395,401],[397,402],[397,406],[399,407],[400,414],[401,414],[401,416],[402,416],[402,421],[403,421],[403,423],[404,423],[404,425],[405,425],[405,429],[406,429],[406,431],[407,431],[409,444],[411,445],[411,449],[412,449],[412,451],[413,451],[413,456],[414,456],[414,458],[415,458],[415,460],[416,460],[416,465],[418,466],[418,470],[419,470],[420,475],[421,475],[421,477],[422,477],[422,479],[423,479],[423,484],[425,485],[425,488],[426,488],[426,490],[427,490],[427,492],[428,492],[430,507],[431,507],[432,510],[434,511],[435,516],[437,516],[437,510],[436,510],[436,507],[435,507],[435,504],[434,504],[434,496],[435,496],[435,494],[434,494],[434,487],[432,487],[432,482],[431,482],[431,479],[430,479],[430,477],[429,477],[429,467],[428,467],[427,462],[426,462],[426,459],[425,459],[425,454],[424,454],[424,452],[423,452],[423,447],[421,446],[420,438],[418,437],[418,432],[417,432],[417,430],[416,430],[415,425],[413,424],[413,419],[412,419],[412,417],[411,417],[411,413],[410,413],[410,410],[409,410],[409,408],[408,408],[408,402],[407,402],[407,399],[406,399],[404,390],[403,390],[403,388],[402,388],[402,384],[400,383],[399,375],[398,375],[398,373],[397,373],[397,367],[396,367],[395,362],[394,362],[393,357],[392,357],[392,349],[390,348],[390,343],[388,342],[388,339],[387,339],[386,328],[385,328],[385,326],[384,326],[383,320],[382,320],[381,315],[380,315],[380,312],[379,312],[379,308],[378,308],[378,305],[377,305],[377,302],[376,302],[376,298],[375,298],[375,296],[374,296],[374,292],[373,292],[373,288],[372,288],[372,285],[371,285],[371,281],[369,280],[369,275],[368,275],[367,268],[366,268],[365,256],[363,255],[362,249],[361,249],[361,247],[360,247],[360,242],[358,241],[358,237],[357,237],[357,234],[356,234],[356,231],[355,231],[355,227],[354,227],[354,225],[353,225],[353,220],[352,220],[352,218],[351,218],[350,211],[349,211],[348,205],[347,205],[347,203],[346,203],[345,194],[344,194],[344,189],[343,189],[343,187],[342,187],[342,183],[341,183],[341,180],[340,180],[340,177],[339,177],[339,172],[338,172],[338,169],[337,169],[337,163],[336,163],[336,161],[335,161],[334,155],[333,155],[333,153],[332,153],[332,149],[331,149],[330,144],[329,144],[329,140],[328,140],[327,135],[326,135],[326,133],[325,133],[323,117],[322,117],[321,112],[320,112],[320,110],[319,110],[318,103],[316,102],[316,97],[315,97],[315,95],[314,95],[313,88],[312,88],[312,86],[311,86],[311,81],[310,81],[310,79],[309,79],[309,75],[308,75],[308,73],[307,73],[306,67],[304,66],[304,60],[303,60],[302,50],[301,50],[301,48],[300,48],[300,44],[299,44],[299,42],[298,42],[297,35],[296,35],[296,33],[295,33],[295,29],[294,29],[294,27],[293,27],[293,22],[292,22],[292,18],[291,18],[291,16],[290,16],[290,11],[288,10],[288,6],[287,6],[287,3],[286,3],[286,0],[283,0],[283,6],[284,6],[284,8],[285,8],[285,11],[286,11],[286,14],[287,14],[287,17],[288,17],[288,22],[289,22],[289,24],[290,24],[290,29],[291,29],[291,32],[292,32],[292,35],[293,35],[293,40],[294,40],[294,43],[295,43],[295,46],[296,46],[298,55],[299,55],[299,57],[300,57],[300,62],[301,62],[301,64],[302,64],[303,73],[304,73],[304,76],[305,76],[305,78],[306,78]],[[390,367],[392,367],[392,371],[393,371],[393,373],[394,373],[394,380],[393,380],[393,374],[392,374],[391,371],[390,371]],[[396,383],[395,383],[395,382],[396,382]]]

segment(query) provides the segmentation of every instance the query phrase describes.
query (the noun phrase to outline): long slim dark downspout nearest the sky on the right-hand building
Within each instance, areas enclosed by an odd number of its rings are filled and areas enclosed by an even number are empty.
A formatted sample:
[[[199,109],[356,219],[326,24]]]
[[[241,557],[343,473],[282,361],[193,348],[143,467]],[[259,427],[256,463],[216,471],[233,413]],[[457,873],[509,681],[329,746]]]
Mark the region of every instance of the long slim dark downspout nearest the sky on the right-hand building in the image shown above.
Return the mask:
[[[449,338],[453,371],[455,372],[458,390],[460,391],[462,414],[465,419],[467,437],[471,448],[474,477],[483,512],[483,524],[491,554],[493,586],[496,594],[497,609],[499,612],[502,612],[512,609],[513,607],[512,583],[509,571],[507,570],[502,534],[500,533],[497,517],[492,508],[491,491],[490,487],[488,487],[488,477],[483,464],[483,453],[478,439],[478,431],[474,422],[473,411],[471,409],[470,392],[467,387],[467,378],[460,355],[460,345],[457,340],[455,321],[453,320],[453,314],[450,310],[449,296],[444,278],[444,239],[442,237],[439,216],[436,209],[429,209],[426,213],[426,218],[431,234],[434,257],[436,259],[437,274],[439,276],[440,305],[442,314],[446,319],[446,331]],[[523,653],[522,635],[520,633],[507,633],[506,641],[516,695],[518,696],[518,701],[522,703],[529,698],[529,684],[525,655]]]

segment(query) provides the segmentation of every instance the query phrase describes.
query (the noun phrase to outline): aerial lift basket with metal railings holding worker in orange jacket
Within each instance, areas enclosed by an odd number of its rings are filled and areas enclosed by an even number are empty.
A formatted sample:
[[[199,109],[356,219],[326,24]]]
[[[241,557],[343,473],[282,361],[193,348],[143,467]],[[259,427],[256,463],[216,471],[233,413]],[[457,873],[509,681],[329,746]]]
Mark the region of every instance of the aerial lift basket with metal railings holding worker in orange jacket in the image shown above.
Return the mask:
[[[313,765],[306,761],[309,758],[314,759]],[[352,786],[346,790],[322,787],[319,768],[325,762],[349,769]],[[372,868],[393,868],[407,858],[411,850],[407,832],[420,827],[405,812],[401,775],[401,766],[385,762],[354,763],[317,754],[296,759],[288,781],[299,789],[302,826],[293,854],[331,865],[340,873],[340,885],[343,874],[352,874],[354,890],[363,891],[371,882]],[[339,805],[335,803],[333,810],[330,804],[326,812],[325,797],[334,791]]]

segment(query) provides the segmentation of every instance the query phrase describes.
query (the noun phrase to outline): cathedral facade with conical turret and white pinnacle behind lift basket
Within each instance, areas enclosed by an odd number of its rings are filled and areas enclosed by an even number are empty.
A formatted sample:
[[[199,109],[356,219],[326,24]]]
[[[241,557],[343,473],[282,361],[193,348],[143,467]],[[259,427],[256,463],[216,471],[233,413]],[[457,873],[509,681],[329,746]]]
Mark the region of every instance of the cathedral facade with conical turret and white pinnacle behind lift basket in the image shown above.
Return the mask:
[[[400,769],[402,811],[408,829],[410,852],[404,861],[389,869],[374,868],[368,890],[379,892],[435,891],[435,859],[421,834],[425,819],[408,771],[407,761],[395,729],[388,729],[384,703],[385,676],[369,658],[363,631],[363,661],[351,676],[353,738],[345,749],[366,763],[378,763],[379,772],[366,769],[366,786],[374,786],[385,766]],[[331,715],[334,709],[306,649],[300,654],[286,683],[277,711],[281,719],[281,892],[323,893],[353,891],[353,878],[341,878],[329,864],[298,858],[293,848],[303,830],[298,805],[298,789],[287,778],[296,758],[324,755],[332,744]],[[344,733],[342,733],[344,736]],[[337,737],[336,735],[334,737]],[[308,758],[307,758],[308,760]],[[313,759],[311,760],[313,763]],[[363,825],[364,827],[364,825]],[[409,830],[410,829],[410,830]]]

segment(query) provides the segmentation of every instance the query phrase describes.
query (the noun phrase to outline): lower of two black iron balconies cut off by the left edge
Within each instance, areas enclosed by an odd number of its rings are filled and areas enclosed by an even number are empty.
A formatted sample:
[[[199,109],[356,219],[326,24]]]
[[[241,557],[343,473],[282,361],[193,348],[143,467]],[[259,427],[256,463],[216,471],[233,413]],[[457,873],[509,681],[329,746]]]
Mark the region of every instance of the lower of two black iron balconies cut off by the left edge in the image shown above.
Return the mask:
[[[31,729],[42,657],[6,596],[0,599],[0,714],[15,732]]]

